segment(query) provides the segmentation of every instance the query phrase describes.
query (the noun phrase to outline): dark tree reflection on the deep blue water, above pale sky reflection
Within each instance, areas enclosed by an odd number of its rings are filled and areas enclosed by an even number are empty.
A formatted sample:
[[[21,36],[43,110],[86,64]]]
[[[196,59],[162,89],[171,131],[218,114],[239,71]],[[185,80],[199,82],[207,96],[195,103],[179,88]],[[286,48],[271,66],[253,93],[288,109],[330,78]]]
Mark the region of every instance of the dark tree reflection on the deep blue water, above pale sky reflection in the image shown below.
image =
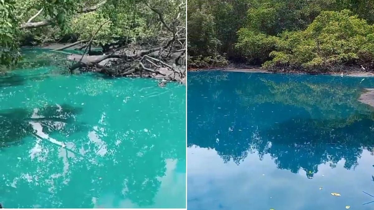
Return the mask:
[[[188,146],[224,163],[270,154],[279,169],[312,178],[318,166],[354,169],[374,151],[373,109],[357,101],[374,80],[199,72],[188,75]],[[373,153],[372,153],[373,154]]]

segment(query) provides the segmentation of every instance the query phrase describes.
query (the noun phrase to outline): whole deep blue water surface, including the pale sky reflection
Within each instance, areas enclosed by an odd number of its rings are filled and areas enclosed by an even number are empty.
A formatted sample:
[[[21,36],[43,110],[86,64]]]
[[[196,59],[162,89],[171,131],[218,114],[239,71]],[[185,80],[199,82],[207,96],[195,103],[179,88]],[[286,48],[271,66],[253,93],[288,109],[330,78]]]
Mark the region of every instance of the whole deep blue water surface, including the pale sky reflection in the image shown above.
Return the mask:
[[[374,209],[374,109],[357,101],[374,78],[361,80],[188,72],[188,209]]]

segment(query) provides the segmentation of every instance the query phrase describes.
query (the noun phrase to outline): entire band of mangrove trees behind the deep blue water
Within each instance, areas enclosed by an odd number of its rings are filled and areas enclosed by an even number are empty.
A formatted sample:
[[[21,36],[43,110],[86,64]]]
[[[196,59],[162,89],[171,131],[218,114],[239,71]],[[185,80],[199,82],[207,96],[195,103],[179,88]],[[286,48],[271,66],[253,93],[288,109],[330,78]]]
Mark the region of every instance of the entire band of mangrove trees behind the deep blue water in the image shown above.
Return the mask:
[[[191,0],[188,65],[373,69],[374,1]]]

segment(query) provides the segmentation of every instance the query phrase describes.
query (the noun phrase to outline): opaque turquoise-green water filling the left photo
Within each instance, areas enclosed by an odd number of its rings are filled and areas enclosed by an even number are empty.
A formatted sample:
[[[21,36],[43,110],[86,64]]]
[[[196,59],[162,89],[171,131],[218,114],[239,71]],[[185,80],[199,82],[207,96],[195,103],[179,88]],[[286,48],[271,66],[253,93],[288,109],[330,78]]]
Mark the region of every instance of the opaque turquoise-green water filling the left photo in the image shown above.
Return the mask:
[[[0,78],[4,208],[184,208],[186,86],[63,74],[61,56]]]

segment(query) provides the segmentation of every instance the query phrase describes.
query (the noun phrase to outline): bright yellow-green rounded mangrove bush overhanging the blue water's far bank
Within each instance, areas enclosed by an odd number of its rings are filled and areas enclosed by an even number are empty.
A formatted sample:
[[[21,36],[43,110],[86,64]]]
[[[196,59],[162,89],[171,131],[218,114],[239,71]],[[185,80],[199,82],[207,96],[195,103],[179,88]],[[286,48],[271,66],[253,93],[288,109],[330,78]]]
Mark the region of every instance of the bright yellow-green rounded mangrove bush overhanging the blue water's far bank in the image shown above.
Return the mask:
[[[306,30],[285,31],[266,66],[321,67],[374,59],[374,26],[349,10],[322,12]]]

